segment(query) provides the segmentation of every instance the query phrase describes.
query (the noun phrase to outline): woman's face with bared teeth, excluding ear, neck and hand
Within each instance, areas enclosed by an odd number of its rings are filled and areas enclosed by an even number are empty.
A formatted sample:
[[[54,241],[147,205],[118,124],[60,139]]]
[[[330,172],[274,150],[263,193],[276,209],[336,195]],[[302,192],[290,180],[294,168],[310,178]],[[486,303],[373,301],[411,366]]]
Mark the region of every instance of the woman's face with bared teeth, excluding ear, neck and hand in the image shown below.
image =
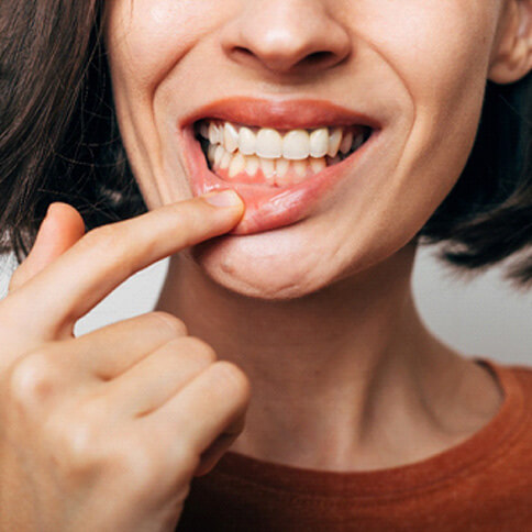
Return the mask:
[[[250,296],[303,296],[383,262],[465,165],[505,5],[110,0],[117,111],[148,208],[235,188],[239,234],[190,256]]]

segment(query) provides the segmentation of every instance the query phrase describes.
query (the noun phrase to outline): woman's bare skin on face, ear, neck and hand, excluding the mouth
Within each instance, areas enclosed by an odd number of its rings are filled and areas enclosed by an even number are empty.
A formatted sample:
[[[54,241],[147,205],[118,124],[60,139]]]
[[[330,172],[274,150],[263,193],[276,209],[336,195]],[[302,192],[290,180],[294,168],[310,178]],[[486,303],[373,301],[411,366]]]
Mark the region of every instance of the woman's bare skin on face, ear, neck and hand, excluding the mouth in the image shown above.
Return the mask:
[[[375,469],[489,422],[497,383],[417,314],[412,237],[459,176],[486,79],[530,71],[532,2],[107,7],[121,132],[151,212],[84,235],[76,211],[53,206],[0,302],[0,530],[171,530],[192,476],[229,447]],[[384,143],[366,186],[346,178],[289,228],[210,240],[243,207],[184,201],[174,124],[234,95],[375,106]],[[73,337],[77,319],[165,256],[157,312]]]

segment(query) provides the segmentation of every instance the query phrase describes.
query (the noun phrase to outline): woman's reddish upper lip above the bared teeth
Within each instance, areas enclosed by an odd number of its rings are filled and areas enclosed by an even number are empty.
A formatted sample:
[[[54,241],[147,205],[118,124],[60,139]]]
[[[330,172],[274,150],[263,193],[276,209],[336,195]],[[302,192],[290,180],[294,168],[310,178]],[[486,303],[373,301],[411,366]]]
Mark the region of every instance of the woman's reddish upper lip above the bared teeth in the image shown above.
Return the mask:
[[[374,130],[381,128],[373,117],[325,100],[277,100],[244,96],[225,98],[196,109],[181,119],[179,126],[187,128],[207,118],[278,130],[326,125],[366,125]]]

